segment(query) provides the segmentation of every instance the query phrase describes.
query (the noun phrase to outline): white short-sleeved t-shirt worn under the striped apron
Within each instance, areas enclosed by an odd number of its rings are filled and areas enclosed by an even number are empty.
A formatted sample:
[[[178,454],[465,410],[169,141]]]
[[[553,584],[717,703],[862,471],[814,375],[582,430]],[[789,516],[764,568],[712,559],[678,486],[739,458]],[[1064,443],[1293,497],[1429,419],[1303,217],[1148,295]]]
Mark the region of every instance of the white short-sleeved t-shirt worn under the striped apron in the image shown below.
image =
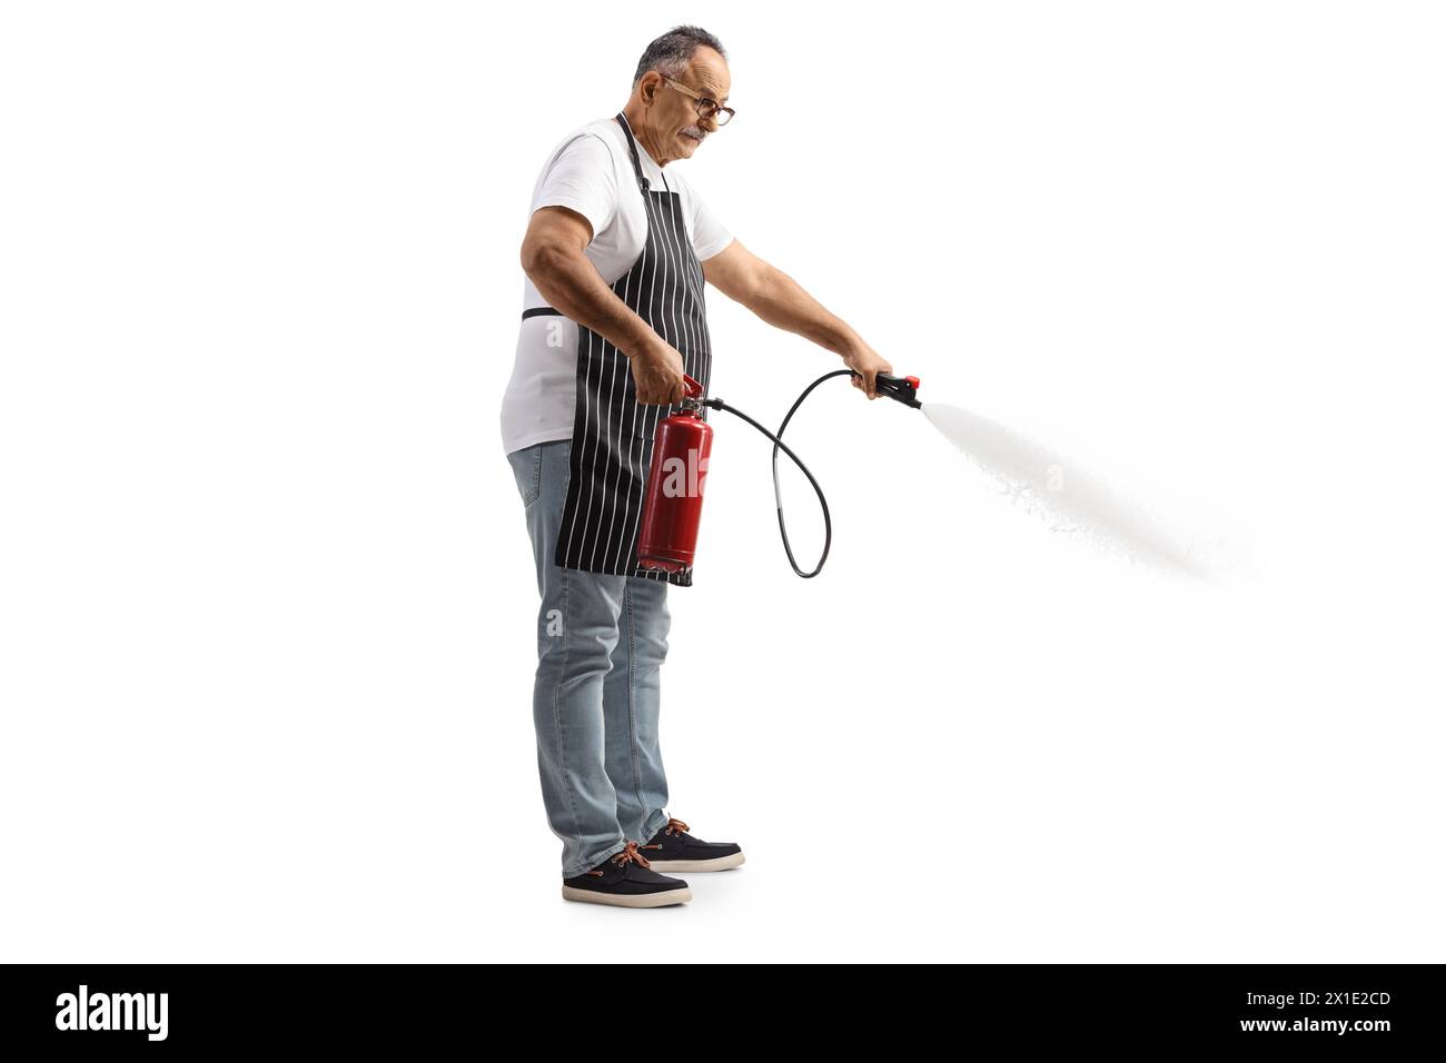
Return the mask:
[[[683,223],[698,262],[727,247],[733,237],[671,163],[664,169],[638,145],[638,162],[654,191],[672,189],[683,200]],[[667,184],[665,184],[667,182]],[[552,150],[532,189],[532,211],[570,207],[593,226],[584,255],[612,286],[632,269],[648,239],[648,214],[628,152],[628,135],[615,119],[599,119]],[[531,213],[531,211],[529,211]],[[547,307],[523,278],[522,308]],[[577,324],[558,314],[521,323],[512,379],[502,398],[502,445],[506,453],[573,435],[577,399]]]

